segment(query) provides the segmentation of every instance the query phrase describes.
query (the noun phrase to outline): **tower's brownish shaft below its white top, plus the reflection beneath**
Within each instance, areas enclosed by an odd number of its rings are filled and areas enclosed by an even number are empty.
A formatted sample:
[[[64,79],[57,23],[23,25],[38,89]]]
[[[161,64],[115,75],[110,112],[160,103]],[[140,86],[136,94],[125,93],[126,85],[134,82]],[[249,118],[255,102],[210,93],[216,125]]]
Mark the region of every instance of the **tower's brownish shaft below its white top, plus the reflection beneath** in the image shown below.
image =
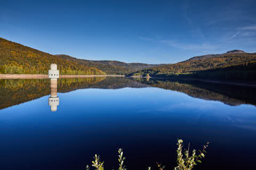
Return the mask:
[[[51,96],[49,97],[49,106],[51,106],[51,111],[57,111],[57,106],[59,106],[59,97],[57,96],[58,80],[51,79]]]

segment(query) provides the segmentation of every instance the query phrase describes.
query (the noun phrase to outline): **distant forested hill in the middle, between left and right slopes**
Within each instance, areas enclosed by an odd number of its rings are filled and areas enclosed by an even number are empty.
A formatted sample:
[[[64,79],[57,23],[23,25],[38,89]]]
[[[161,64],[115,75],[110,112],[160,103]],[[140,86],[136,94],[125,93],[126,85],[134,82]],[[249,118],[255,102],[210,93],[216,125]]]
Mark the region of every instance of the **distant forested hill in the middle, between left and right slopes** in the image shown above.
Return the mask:
[[[146,69],[149,67],[159,66],[159,64],[145,64],[145,63],[124,63],[119,61],[93,61],[83,60],[68,55],[56,55],[68,61],[74,61],[87,66],[95,67],[107,74],[129,74],[138,70]]]

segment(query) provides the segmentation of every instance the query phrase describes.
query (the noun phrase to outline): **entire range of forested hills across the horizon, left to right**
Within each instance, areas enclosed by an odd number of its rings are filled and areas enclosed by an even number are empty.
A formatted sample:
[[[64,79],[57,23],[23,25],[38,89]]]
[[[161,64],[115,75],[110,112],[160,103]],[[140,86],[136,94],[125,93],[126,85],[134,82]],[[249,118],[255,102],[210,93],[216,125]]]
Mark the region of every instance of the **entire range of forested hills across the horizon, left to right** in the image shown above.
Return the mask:
[[[58,65],[60,74],[123,74],[256,81],[256,53],[246,53],[239,49],[223,54],[195,56],[175,64],[145,64],[51,55],[0,38],[0,73],[47,74],[51,63]]]

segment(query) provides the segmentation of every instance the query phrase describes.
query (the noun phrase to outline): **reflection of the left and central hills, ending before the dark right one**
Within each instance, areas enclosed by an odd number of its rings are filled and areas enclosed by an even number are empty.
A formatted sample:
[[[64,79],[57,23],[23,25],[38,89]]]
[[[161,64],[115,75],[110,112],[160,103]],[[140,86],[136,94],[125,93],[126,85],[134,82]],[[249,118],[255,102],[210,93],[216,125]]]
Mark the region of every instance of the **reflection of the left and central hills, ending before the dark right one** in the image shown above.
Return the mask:
[[[147,85],[123,77],[58,79],[58,92],[61,93],[86,88],[118,89],[124,87],[140,88],[147,87]],[[0,109],[50,95],[50,92],[50,79],[1,79]]]

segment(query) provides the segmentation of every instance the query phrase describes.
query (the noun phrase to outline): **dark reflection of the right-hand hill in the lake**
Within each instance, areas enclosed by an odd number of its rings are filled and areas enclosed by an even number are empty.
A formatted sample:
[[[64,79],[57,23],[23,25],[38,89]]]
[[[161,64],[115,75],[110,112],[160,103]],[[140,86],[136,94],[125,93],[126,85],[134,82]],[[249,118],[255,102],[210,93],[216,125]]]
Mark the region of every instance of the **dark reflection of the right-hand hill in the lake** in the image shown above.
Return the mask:
[[[139,81],[153,87],[180,91],[191,97],[221,101],[230,106],[241,104],[256,105],[256,88],[253,87],[185,80],[141,79]]]

